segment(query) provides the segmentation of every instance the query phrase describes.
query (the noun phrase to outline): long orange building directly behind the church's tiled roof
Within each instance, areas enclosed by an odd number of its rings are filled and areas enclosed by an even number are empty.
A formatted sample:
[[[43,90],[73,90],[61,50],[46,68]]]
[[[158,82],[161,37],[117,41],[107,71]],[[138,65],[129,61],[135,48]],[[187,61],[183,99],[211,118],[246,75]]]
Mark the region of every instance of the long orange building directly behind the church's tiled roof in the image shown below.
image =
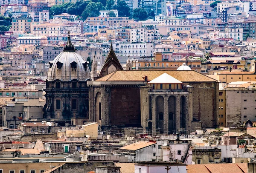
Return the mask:
[[[167,56],[167,55],[164,55]],[[169,58],[166,58],[169,59]],[[136,68],[136,63],[132,61],[133,69]],[[192,70],[201,72],[201,60],[168,60],[163,61],[163,54],[160,52],[155,53],[153,60],[151,58],[138,60],[139,70],[177,70],[178,67],[186,63]]]

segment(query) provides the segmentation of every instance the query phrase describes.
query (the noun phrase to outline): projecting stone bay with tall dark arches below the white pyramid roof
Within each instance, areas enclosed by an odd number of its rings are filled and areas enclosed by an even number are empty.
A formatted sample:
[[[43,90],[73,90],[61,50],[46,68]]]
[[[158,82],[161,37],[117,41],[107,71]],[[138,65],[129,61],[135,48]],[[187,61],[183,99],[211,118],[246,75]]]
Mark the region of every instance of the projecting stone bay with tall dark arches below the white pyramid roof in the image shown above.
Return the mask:
[[[192,122],[192,88],[182,91],[152,90],[142,86],[141,125],[148,130],[173,134],[176,130],[191,130]]]

